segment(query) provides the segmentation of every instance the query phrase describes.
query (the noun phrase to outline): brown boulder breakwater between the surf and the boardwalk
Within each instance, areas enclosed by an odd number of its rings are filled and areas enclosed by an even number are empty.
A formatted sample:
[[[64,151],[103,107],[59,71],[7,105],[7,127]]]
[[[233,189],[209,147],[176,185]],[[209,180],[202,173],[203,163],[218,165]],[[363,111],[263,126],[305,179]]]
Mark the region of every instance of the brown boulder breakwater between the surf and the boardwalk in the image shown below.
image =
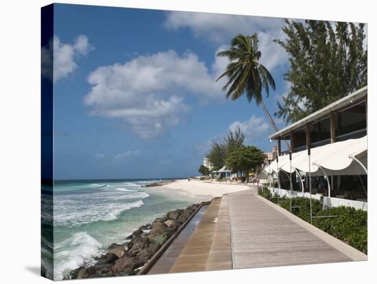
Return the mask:
[[[71,271],[66,279],[135,275],[199,205],[169,211],[151,224],[141,226],[126,237],[123,244],[111,244],[94,265],[81,266]]]

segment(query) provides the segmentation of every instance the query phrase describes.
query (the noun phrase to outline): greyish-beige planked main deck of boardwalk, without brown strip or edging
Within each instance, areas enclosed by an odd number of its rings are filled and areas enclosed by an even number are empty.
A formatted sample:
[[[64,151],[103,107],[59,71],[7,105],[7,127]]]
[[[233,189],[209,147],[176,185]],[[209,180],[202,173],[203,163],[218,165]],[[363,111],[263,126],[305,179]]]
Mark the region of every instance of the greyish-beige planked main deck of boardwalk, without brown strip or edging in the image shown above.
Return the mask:
[[[228,195],[233,268],[351,261],[247,190]]]

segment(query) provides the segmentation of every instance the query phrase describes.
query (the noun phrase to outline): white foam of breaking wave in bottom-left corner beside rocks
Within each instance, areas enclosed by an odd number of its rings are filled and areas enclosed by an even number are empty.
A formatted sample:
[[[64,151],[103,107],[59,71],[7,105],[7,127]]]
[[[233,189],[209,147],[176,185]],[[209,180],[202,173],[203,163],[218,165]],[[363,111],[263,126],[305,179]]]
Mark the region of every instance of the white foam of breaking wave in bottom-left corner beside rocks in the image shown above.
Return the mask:
[[[81,265],[94,263],[94,257],[101,255],[101,248],[99,241],[86,232],[75,233],[69,239],[56,244],[54,280],[62,280],[65,274]]]

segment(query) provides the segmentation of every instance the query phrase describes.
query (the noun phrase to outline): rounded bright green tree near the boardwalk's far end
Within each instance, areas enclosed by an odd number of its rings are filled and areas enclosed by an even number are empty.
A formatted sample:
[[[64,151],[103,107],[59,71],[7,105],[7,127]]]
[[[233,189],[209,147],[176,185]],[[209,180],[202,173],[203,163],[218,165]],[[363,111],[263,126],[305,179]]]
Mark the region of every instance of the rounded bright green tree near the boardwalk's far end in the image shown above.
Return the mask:
[[[242,171],[247,177],[265,160],[265,154],[255,146],[240,146],[232,149],[226,157],[226,165],[232,171]]]

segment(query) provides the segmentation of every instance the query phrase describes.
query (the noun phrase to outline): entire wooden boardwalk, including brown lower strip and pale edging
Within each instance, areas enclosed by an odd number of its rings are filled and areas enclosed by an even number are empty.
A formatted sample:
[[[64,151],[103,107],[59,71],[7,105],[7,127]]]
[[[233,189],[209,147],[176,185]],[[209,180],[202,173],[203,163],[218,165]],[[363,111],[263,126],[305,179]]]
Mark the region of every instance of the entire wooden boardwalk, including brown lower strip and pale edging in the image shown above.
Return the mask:
[[[196,223],[182,230],[148,274],[367,259],[261,198],[255,188],[212,200],[192,222]]]

